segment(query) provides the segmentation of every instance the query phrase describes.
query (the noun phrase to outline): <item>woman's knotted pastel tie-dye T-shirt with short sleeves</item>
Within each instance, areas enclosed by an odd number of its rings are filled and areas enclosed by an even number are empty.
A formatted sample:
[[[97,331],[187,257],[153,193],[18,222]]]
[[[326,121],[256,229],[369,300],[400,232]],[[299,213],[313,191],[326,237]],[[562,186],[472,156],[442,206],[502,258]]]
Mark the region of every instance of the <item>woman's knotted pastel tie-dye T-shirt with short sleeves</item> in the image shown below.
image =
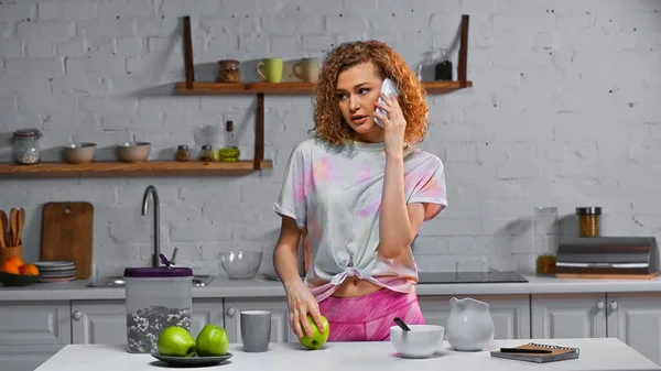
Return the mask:
[[[411,293],[418,268],[411,250],[397,259],[378,254],[386,153],[383,143],[354,142],[328,149],[314,139],[293,150],[273,209],[307,227],[311,259],[305,283],[317,302],[347,276]],[[409,149],[404,156],[407,203],[429,203],[425,220],[447,206],[441,160]]]

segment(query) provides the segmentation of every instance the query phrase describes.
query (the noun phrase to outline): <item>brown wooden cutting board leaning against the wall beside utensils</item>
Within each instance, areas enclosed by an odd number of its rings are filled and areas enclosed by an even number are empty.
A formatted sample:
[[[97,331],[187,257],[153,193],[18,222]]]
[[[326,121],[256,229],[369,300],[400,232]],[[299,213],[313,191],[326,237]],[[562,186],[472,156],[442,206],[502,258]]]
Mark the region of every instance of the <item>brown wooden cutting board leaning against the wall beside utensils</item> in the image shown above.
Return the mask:
[[[89,203],[46,203],[42,216],[43,261],[72,261],[76,279],[91,275],[94,207]]]

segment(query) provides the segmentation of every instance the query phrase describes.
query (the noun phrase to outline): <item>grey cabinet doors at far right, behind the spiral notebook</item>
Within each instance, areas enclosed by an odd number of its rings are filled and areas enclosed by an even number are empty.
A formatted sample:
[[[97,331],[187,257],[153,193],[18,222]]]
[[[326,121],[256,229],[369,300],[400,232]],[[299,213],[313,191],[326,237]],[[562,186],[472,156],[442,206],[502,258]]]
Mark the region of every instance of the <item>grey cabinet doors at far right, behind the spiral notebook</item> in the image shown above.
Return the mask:
[[[615,337],[661,364],[661,293],[531,296],[532,337]]]

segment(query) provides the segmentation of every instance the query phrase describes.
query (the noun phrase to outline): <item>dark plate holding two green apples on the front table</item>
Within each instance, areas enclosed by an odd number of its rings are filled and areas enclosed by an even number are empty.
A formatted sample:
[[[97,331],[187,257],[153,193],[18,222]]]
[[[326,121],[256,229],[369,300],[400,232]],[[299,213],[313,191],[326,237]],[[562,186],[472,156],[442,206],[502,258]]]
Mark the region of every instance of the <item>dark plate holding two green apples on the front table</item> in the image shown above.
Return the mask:
[[[231,358],[229,339],[223,327],[207,324],[194,338],[178,326],[165,328],[159,336],[152,357],[171,367],[208,367]]]

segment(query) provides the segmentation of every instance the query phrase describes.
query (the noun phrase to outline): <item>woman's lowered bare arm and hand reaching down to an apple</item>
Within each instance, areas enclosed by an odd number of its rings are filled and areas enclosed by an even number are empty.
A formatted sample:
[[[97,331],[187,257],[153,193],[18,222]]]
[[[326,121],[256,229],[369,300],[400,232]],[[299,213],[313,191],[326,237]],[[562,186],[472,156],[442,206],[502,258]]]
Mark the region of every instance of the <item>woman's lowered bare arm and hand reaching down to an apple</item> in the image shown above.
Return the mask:
[[[317,328],[323,331],[324,324],[321,319],[319,306],[310,288],[299,275],[299,242],[301,229],[296,221],[290,217],[282,217],[280,238],[273,251],[273,265],[275,273],[282,281],[286,292],[286,301],[290,310],[290,325],[299,338],[303,337],[303,330],[311,337],[312,330],[307,323],[307,314],[312,316]]]

